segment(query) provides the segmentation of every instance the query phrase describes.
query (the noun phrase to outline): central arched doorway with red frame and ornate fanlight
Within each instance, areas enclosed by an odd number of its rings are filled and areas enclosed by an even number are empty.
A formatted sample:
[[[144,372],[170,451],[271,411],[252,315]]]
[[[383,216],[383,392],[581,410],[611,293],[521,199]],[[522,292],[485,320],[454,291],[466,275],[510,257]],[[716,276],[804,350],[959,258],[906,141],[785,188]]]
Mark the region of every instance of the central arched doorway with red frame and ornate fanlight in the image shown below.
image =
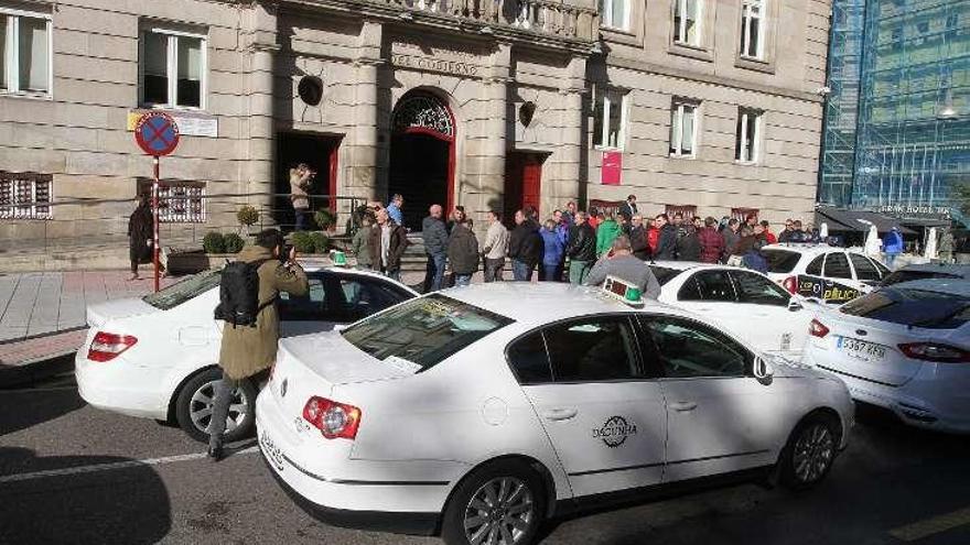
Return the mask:
[[[438,97],[410,92],[395,107],[391,131],[388,197],[405,197],[405,226],[419,231],[432,204],[454,204],[454,116]]]

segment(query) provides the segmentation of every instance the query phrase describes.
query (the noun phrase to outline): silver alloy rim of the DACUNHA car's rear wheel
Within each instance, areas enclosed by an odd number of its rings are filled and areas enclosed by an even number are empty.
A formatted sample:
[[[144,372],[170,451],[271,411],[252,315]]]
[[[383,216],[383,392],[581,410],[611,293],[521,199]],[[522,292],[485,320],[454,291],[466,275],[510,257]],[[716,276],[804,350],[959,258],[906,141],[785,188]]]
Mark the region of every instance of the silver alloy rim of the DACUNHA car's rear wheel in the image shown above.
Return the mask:
[[[522,541],[536,521],[528,484],[515,477],[498,477],[472,494],[463,522],[472,545],[514,545]]]

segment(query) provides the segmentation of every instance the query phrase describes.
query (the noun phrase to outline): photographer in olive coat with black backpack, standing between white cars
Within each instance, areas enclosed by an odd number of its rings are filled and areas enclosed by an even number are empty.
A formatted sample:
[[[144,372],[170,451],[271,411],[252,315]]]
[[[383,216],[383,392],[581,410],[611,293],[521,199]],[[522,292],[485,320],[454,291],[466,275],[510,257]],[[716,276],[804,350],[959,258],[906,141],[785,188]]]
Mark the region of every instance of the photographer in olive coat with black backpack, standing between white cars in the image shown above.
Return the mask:
[[[256,236],[239,260],[223,269],[215,318],[225,320],[219,350],[223,379],[216,383],[208,433],[208,455],[223,458],[223,434],[234,393],[241,381],[256,378],[273,364],[280,339],[276,301],[280,292],[302,296],[309,291],[306,273],[297,263],[297,250],[285,246],[278,229]],[[255,410],[255,405],[252,405]]]

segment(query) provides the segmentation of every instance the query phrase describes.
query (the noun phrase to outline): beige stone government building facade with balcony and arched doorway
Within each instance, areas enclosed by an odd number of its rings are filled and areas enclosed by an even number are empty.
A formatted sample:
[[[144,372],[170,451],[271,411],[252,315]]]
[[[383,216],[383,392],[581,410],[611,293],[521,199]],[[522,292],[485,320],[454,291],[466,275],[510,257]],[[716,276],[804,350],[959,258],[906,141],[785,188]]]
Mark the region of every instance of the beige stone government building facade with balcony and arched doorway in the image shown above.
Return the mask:
[[[299,162],[314,194],[403,194],[411,227],[432,201],[545,216],[628,193],[651,212],[805,216],[828,6],[0,0],[0,246],[123,238],[153,109],[182,132],[161,160],[173,236],[235,227],[242,204],[287,224],[274,194]]]

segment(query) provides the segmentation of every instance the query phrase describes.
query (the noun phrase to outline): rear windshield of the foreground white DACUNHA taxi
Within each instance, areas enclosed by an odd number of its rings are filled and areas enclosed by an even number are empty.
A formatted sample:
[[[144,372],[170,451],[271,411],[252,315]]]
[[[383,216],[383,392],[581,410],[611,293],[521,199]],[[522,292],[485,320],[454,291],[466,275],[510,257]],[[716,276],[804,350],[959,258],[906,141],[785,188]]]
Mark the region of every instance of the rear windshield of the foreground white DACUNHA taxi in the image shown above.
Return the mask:
[[[384,361],[430,369],[514,320],[434,294],[402,303],[343,330],[347,342]]]

